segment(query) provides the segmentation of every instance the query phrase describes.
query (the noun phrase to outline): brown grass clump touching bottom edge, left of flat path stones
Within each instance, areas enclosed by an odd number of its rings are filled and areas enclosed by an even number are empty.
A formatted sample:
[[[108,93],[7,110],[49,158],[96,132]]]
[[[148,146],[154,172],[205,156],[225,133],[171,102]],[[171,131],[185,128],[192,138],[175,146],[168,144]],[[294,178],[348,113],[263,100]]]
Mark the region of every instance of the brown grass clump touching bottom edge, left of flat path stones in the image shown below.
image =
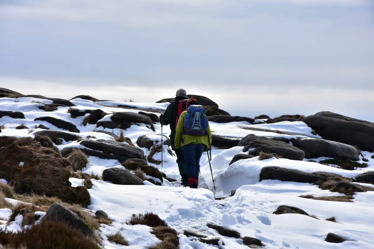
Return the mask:
[[[151,234],[161,240],[159,244],[151,249],[178,249],[179,238],[177,231],[168,226],[153,227]]]

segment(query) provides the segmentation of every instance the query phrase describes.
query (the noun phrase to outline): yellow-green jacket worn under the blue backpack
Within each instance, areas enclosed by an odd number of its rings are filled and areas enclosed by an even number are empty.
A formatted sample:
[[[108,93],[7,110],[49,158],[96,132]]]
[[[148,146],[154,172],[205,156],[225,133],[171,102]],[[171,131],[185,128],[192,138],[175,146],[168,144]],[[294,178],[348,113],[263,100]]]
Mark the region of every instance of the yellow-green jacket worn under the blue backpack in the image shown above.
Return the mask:
[[[186,116],[187,111],[182,112],[181,116],[179,117],[178,125],[176,128],[175,133],[175,149],[181,149],[182,146],[190,143],[203,143],[206,145],[207,149],[210,148],[210,144],[212,143],[212,132],[208,125],[206,131],[208,135],[206,136],[192,136],[192,135],[185,135],[183,134],[184,130],[184,117]]]

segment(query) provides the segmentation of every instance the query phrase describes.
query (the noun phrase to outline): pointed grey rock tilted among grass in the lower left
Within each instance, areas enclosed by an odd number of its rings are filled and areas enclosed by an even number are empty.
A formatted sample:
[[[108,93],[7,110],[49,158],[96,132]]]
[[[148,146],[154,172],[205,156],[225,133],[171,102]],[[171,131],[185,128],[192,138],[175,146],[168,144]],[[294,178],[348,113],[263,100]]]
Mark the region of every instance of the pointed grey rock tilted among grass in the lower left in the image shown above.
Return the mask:
[[[43,220],[51,219],[62,221],[73,228],[81,231],[85,236],[92,237],[93,231],[76,213],[55,202],[47,210]]]

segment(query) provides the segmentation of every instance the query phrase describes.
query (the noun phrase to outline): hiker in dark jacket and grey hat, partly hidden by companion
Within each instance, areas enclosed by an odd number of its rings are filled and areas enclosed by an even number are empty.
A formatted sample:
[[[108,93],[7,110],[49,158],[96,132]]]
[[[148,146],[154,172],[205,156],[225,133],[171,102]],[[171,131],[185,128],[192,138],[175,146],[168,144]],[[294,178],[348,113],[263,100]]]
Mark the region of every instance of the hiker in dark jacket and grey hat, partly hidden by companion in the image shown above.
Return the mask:
[[[184,186],[188,186],[188,177],[187,177],[187,169],[186,169],[186,162],[184,161],[183,152],[181,149],[175,149],[175,127],[177,126],[177,119],[178,117],[178,104],[180,100],[188,100],[187,92],[183,88],[177,90],[175,93],[175,101],[171,102],[171,104],[166,108],[165,113],[162,116],[162,124],[170,125],[170,141],[171,141],[171,148],[175,151],[177,155],[177,164],[179,169],[179,174],[182,177],[181,183]]]

